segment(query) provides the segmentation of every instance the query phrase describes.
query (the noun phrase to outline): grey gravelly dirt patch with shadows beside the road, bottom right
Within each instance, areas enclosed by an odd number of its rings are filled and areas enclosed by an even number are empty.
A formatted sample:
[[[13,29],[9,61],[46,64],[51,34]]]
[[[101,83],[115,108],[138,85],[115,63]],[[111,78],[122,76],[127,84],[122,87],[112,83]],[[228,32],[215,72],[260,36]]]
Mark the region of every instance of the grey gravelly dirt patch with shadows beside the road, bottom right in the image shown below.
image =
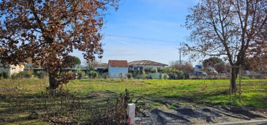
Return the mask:
[[[176,101],[179,102],[179,100]],[[136,117],[139,117],[139,120],[136,121],[136,125],[215,124],[267,119],[265,110],[234,106],[210,106],[194,103],[192,100],[189,100],[189,102],[192,105],[168,101],[168,103],[178,105],[178,108],[150,109],[146,111],[149,117],[137,114]]]

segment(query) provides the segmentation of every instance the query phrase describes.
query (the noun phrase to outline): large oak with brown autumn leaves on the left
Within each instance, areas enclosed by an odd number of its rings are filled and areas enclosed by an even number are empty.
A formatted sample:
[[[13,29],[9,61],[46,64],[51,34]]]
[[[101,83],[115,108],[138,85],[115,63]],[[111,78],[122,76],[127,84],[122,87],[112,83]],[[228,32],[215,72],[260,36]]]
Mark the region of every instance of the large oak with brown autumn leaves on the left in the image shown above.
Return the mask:
[[[1,0],[0,63],[32,58],[48,69],[50,89],[71,79],[60,73],[73,49],[101,57],[104,17],[118,0]]]

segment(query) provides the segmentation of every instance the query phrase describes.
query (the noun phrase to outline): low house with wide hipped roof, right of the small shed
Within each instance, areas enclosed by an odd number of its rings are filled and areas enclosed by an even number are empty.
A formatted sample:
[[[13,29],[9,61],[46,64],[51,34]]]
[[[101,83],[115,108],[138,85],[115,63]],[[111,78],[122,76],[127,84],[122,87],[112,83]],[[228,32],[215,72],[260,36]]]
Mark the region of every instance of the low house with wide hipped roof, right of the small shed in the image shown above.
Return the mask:
[[[129,62],[129,69],[130,70],[143,70],[146,68],[152,68],[152,69],[163,69],[165,66],[168,66],[163,63],[158,63],[150,60],[140,60],[140,61],[133,61]]]

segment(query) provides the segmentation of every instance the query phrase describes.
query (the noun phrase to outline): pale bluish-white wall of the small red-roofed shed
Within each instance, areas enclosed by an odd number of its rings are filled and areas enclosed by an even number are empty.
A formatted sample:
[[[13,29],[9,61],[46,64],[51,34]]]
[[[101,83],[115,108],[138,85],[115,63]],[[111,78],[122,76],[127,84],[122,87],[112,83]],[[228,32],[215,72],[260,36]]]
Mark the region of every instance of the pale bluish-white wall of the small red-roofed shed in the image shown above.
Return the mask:
[[[128,73],[128,67],[109,67],[108,74],[110,78],[119,78],[119,73],[122,72],[122,76],[126,77]]]

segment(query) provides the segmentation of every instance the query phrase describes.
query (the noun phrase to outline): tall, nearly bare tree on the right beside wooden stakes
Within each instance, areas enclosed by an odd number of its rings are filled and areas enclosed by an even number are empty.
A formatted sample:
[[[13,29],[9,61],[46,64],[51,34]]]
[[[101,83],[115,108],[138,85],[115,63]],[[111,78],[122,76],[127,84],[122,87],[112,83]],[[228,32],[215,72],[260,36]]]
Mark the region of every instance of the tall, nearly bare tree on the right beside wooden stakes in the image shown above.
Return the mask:
[[[232,66],[243,65],[246,57],[260,56],[250,50],[266,47],[266,0],[201,0],[189,10],[185,27],[191,34],[183,51],[191,58],[222,56]]]

